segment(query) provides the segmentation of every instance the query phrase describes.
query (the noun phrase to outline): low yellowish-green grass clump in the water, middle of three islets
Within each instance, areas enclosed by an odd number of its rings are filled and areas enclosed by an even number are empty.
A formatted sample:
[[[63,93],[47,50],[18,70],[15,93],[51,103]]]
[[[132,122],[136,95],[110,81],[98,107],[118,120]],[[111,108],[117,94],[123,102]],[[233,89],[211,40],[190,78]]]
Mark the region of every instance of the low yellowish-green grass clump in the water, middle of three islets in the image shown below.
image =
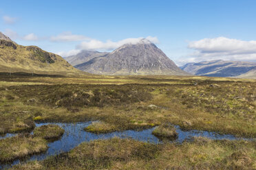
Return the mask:
[[[92,132],[96,134],[114,132],[116,127],[103,121],[94,121],[91,125],[85,127],[86,132]]]

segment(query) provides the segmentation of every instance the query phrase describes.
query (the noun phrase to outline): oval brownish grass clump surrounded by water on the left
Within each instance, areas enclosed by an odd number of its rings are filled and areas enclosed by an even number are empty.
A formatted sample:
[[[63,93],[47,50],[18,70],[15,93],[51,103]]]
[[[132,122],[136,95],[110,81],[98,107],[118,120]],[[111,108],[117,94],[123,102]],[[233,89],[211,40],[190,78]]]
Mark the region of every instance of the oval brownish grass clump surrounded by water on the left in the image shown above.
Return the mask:
[[[61,137],[64,132],[65,130],[58,125],[41,125],[34,129],[34,136],[52,140]]]

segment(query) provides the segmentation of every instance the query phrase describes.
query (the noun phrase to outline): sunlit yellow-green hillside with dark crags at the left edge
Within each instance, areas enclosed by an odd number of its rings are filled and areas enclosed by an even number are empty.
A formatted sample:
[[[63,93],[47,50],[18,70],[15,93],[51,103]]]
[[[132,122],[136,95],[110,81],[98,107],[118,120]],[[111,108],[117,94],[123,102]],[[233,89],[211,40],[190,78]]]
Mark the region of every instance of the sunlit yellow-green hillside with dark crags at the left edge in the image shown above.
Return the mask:
[[[36,46],[22,46],[0,32],[0,72],[81,74],[61,56]]]

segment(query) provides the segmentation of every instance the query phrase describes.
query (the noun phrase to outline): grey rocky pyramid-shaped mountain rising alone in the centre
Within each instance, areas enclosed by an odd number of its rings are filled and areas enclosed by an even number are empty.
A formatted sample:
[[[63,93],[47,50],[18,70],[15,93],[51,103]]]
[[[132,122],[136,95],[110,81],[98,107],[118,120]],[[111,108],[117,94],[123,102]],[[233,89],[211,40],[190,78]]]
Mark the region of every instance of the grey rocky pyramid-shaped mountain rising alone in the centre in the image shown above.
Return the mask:
[[[188,75],[146,39],[135,45],[122,45],[105,56],[92,58],[75,67],[104,75]]]

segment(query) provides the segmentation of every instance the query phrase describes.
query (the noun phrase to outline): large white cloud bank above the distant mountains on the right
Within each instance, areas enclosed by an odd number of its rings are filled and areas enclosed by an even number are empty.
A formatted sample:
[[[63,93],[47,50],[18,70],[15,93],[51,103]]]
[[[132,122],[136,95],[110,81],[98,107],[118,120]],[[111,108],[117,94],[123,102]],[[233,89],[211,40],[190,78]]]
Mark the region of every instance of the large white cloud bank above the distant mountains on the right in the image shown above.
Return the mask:
[[[189,57],[180,58],[179,65],[187,62],[209,60],[237,60],[256,62],[256,41],[237,40],[225,37],[204,38],[189,42],[193,53]]]

